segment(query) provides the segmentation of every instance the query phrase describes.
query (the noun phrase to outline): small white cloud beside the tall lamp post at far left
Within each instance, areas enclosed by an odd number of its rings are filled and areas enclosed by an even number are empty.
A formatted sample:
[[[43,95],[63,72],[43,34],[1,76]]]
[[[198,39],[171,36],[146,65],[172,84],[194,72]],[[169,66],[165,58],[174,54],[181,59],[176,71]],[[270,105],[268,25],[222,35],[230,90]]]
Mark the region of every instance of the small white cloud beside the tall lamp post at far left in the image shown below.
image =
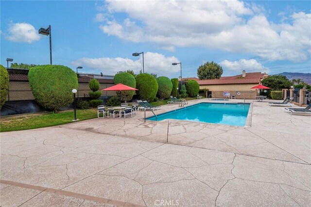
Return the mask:
[[[28,23],[11,23],[7,39],[13,42],[32,43],[40,39],[35,27]]]

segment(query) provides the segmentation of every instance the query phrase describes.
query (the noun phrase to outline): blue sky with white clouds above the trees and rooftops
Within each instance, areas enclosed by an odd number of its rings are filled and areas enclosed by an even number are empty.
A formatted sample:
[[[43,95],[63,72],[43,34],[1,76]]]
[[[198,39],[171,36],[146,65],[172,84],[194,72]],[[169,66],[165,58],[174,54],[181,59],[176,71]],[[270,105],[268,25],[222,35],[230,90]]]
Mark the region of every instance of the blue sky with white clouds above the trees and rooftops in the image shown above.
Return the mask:
[[[0,1],[0,63],[53,64],[114,75],[142,69],[197,77],[214,61],[223,76],[311,73],[311,1]]]

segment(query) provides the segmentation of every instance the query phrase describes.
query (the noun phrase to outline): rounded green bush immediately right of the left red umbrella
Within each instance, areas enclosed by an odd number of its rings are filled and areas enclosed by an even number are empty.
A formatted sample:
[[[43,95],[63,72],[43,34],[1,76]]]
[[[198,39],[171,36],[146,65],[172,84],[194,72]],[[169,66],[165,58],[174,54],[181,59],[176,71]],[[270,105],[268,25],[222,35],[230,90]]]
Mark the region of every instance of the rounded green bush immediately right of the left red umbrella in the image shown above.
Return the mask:
[[[136,76],[136,88],[138,97],[142,100],[153,101],[155,99],[158,84],[153,75],[141,73]]]

